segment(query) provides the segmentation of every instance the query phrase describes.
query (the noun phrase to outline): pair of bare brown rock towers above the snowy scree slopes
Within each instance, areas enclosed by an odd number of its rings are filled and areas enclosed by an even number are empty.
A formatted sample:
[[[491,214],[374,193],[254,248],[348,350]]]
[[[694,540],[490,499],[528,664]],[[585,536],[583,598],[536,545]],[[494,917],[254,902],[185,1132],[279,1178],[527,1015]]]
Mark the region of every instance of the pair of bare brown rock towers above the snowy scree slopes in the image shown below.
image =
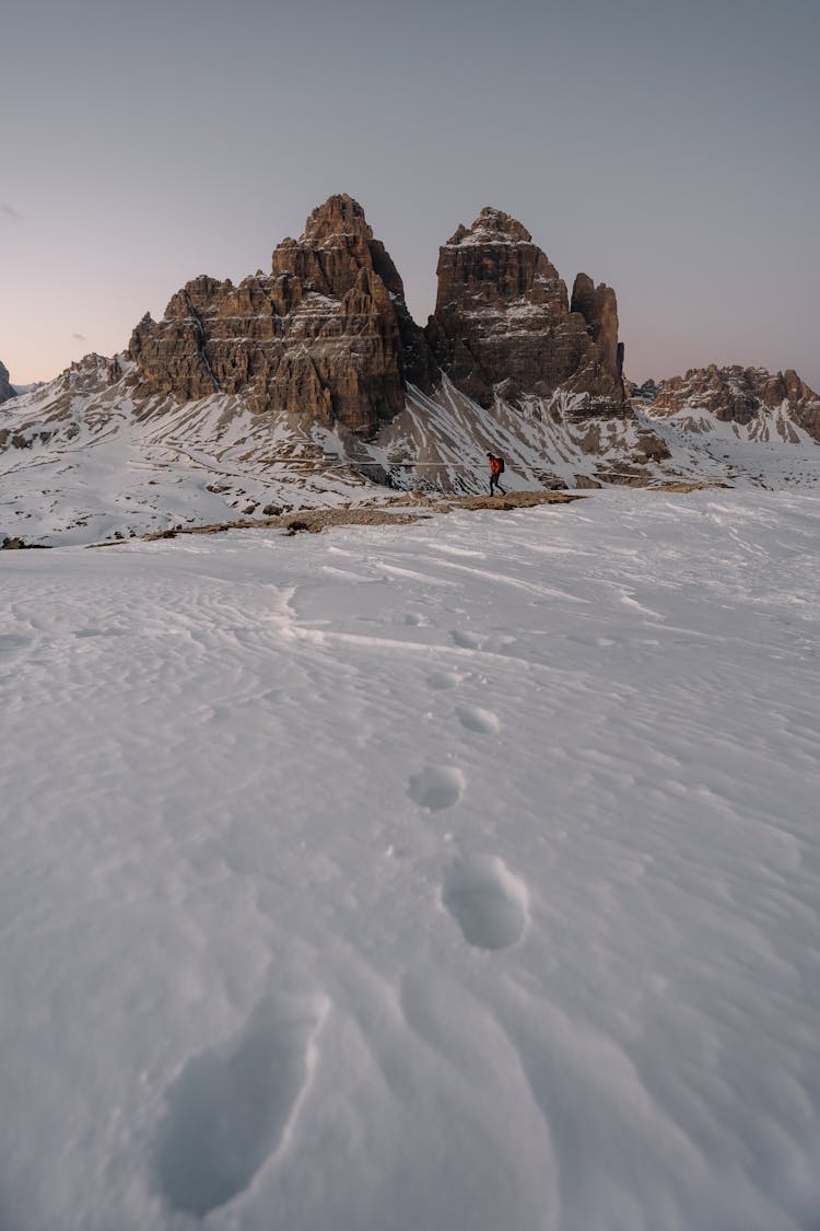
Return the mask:
[[[486,208],[440,250],[435,313],[423,332],[364,211],[331,197],[285,239],[269,275],[239,287],[202,276],[145,316],[129,357],[138,396],[242,393],[258,412],[341,425],[365,438],[398,415],[408,385],[456,389],[487,407],[563,389],[583,415],[628,414],[615,292],[579,275],[572,304],[525,228]]]

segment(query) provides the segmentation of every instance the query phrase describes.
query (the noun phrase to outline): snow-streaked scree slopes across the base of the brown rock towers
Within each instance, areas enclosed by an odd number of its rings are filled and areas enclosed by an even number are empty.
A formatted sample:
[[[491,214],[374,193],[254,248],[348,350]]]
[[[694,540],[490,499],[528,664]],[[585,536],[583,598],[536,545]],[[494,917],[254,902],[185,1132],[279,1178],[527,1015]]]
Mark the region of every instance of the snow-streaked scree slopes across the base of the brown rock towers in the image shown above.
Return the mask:
[[[686,406],[588,414],[558,390],[484,407],[441,377],[364,439],[254,412],[241,394],[189,403],[135,396],[133,364],[89,356],[0,407],[0,539],[92,543],[177,524],[377,501],[395,489],[483,491],[487,449],[507,486],[594,487],[671,479],[816,484],[818,446],[786,407],[749,425]],[[768,416],[768,417],[767,417]],[[770,428],[771,425],[771,428]]]

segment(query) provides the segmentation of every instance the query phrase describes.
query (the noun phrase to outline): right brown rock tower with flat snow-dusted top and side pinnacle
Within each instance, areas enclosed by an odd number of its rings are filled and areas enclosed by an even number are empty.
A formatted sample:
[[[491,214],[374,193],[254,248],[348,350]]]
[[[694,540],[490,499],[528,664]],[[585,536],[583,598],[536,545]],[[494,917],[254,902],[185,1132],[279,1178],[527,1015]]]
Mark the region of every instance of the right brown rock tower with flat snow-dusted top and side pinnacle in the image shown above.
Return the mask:
[[[569,304],[554,266],[530,233],[487,207],[439,252],[439,292],[427,337],[452,382],[483,406],[519,403],[563,385],[586,412],[625,404],[615,292],[579,275]]]

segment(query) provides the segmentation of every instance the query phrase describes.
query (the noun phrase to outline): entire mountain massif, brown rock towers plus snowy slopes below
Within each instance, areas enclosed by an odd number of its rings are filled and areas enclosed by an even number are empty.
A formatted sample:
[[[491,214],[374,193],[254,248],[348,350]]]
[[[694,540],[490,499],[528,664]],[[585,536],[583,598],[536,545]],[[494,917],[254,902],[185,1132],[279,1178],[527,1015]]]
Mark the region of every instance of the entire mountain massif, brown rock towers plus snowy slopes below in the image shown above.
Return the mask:
[[[625,383],[615,292],[579,273],[569,295],[508,214],[459,227],[438,277],[420,329],[361,207],[336,196],[270,273],[194,278],[114,358],[17,395],[0,364],[0,539],[476,491],[488,449],[514,489],[816,481],[820,399],[795,373]]]

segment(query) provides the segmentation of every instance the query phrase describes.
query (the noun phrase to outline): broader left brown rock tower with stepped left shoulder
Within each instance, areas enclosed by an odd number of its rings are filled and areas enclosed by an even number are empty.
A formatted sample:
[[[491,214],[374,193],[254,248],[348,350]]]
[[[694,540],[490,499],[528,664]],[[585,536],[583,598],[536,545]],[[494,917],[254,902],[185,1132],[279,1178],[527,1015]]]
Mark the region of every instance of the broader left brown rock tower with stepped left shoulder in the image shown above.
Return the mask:
[[[331,197],[299,240],[279,244],[270,276],[239,287],[195,278],[161,321],[140,321],[129,350],[144,391],[186,401],[246,390],[258,411],[365,435],[403,407],[408,379],[430,384],[402,281],[348,196]]]

